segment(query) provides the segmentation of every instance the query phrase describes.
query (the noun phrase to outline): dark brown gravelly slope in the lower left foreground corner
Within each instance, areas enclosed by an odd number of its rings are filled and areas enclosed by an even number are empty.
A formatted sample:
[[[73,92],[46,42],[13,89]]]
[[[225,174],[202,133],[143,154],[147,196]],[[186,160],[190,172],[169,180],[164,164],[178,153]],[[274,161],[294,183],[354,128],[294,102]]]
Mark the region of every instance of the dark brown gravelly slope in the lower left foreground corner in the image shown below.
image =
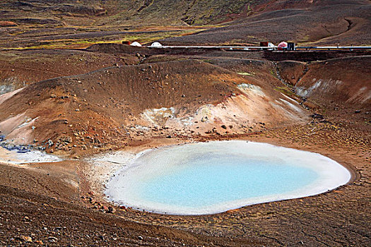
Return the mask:
[[[79,205],[75,191],[67,191],[71,198],[68,203],[60,200],[60,193],[66,191],[66,183],[56,181],[56,178],[50,183],[45,174],[39,172],[1,164],[0,169],[1,246],[195,246],[200,243],[205,246],[251,246],[259,243],[247,239],[235,239],[232,243],[226,238],[139,224],[106,215]],[[19,189],[18,183],[27,183],[27,191]],[[33,192],[30,192],[33,186]],[[59,195],[58,199],[51,196],[51,189]],[[32,242],[23,241],[22,236],[30,236]]]

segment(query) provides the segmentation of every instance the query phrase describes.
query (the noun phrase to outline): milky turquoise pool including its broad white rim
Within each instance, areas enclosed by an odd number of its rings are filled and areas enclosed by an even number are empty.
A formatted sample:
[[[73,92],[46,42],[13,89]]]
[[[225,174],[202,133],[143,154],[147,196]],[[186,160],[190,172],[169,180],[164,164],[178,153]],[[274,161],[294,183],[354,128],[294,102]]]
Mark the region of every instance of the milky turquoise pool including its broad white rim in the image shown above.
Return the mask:
[[[351,179],[314,152],[243,140],[146,150],[117,171],[106,195],[120,205],[204,215],[334,189]]]

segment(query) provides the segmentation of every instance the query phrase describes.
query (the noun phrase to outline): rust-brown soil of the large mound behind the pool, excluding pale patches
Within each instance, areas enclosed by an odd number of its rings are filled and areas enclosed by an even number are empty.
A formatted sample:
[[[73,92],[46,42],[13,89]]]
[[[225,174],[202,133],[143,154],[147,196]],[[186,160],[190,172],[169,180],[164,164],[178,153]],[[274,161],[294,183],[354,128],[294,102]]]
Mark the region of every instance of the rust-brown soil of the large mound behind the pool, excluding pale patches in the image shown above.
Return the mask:
[[[273,77],[273,65],[268,63],[264,70],[258,64],[255,67],[255,71],[260,70],[256,76],[240,76],[184,58],[139,66],[117,65],[33,83],[1,104],[0,119],[23,113],[32,119],[38,117],[28,143],[46,146],[50,139],[54,145],[48,145],[49,151],[78,155],[86,149],[93,151],[93,147],[117,149],[141,138],[131,127],[141,124],[140,114],[146,109],[175,107],[180,109],[179,114],[196,112],[202,105],[240,95],[236,88],[240,83],[257,85],[266,97],[276,99],[281,93],[272,86],[281,83]],[[282,119],[280,116],[277,123]],[[158,132],[159,136],[182,134],[166,128]]]

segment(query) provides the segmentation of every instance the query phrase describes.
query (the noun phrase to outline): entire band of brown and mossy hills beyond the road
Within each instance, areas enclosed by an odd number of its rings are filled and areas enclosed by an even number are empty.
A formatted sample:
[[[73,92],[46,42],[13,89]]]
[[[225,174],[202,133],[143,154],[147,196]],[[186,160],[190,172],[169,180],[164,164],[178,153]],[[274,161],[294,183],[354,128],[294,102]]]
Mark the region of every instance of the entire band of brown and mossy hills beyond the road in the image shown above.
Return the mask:
[[[167,44],[370,44],[370,0],[9,0],[0,47]]]

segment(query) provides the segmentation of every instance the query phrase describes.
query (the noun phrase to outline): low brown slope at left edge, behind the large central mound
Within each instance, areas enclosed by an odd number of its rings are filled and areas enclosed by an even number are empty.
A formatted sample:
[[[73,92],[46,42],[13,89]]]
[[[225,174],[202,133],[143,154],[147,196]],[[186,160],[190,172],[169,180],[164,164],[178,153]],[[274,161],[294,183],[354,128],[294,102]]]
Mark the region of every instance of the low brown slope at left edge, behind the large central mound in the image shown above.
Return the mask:
[[[0,95],[30,83],[88,73],[108,66],[138,64],[134,54],[93,54],[83,50],[23,50],[0,54]]]

